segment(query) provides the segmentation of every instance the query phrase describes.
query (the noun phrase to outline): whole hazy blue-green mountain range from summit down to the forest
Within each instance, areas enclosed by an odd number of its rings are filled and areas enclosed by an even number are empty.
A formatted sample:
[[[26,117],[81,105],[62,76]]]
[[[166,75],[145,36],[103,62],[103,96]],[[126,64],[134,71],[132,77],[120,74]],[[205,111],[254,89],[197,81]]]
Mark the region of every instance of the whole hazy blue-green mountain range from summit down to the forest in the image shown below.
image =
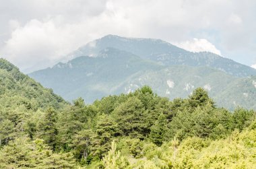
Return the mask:
[[[30,73],[71,101],[93,102],[148,85],[160,96],[187,97],[205,88],[218,106],[256,109],[256,69],[214,53],[191,53],[168,42],[108,35],[71,53],[67,63]]]

